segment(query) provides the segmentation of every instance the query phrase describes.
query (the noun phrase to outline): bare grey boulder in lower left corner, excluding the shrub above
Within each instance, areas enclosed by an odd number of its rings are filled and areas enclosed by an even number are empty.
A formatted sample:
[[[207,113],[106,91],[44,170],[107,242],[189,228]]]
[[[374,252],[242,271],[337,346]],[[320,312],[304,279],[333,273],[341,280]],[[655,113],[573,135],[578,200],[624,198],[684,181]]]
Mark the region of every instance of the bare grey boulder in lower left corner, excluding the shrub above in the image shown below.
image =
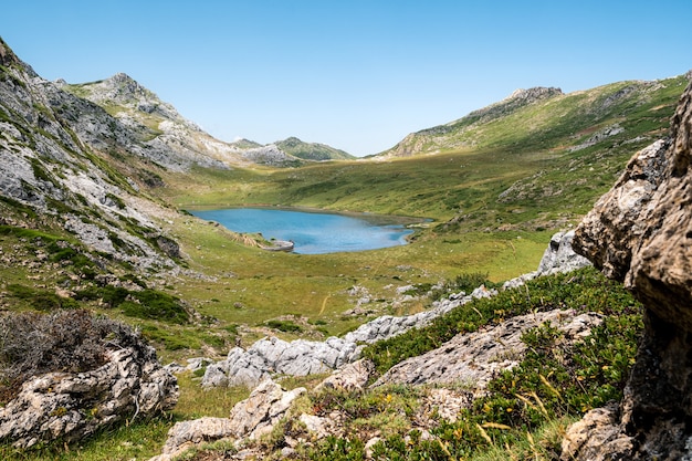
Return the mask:
[[[177,380],[154,348],[125,347],[92,371],[50,373],[24,383],[0,409],[0,440],[20,448],[71,442],[114,422],[170,410],[177,401]]]

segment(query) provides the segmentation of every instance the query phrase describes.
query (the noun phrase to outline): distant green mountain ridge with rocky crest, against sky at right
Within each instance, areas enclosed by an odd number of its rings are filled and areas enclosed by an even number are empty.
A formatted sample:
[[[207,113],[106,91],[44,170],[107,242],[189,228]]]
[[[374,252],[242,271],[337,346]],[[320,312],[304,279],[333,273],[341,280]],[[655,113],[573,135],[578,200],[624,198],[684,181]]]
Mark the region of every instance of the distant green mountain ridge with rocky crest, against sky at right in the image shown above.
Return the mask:
[[[497,147],[578,150],[616,135],[623,138],[628,133],[639,132],[622,124],[628,119],[654,117],[661,108],[648,106],[648,103],[656,101],[657,94],[668,86],[670,80],[619,82],[569,94],[554,87],[517,90],[505,99],[462,118],[412,133],[376,158]],[[630,139],[638,135],[631,135]],[[641,135],[657,136],[654,133]]]

